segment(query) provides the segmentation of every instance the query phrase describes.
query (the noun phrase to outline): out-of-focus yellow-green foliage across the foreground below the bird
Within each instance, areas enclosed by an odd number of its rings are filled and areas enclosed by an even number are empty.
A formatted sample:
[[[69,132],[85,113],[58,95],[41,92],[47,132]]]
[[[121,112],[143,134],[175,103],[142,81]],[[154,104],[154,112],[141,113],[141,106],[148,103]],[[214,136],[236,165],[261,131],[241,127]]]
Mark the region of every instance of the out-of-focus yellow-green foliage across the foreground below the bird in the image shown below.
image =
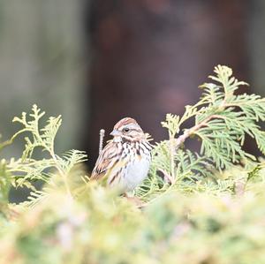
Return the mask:
[[[169,192],[142,209],[98,186],[53,193],[2,227],[1,263],[264,263],[264,184]]]

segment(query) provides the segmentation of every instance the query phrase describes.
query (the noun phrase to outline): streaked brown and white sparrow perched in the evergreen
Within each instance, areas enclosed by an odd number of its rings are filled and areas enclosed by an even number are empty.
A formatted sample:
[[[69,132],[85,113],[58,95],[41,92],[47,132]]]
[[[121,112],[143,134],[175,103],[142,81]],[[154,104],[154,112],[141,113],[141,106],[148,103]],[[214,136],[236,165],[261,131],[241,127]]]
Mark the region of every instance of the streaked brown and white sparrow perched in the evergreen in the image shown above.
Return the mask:
[[[132,191],[148,176],[151,145],[140,125],[125,117],[115,124],[111,140],[100,153],[92,179],[105,177],[107,185]]]

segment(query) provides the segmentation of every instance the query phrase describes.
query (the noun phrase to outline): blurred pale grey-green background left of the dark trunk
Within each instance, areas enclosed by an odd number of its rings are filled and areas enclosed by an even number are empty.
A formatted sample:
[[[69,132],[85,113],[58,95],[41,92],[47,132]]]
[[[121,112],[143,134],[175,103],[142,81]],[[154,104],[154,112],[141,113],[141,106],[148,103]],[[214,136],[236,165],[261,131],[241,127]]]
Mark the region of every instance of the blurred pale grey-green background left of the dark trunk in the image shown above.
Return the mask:
[[[85,113],[83,26],[80,1],[0,2],[0,133],[11,137],[12,117],[34,103],[47,117],[63,116],[59,152],[79,147]],[[4,155],[19,155],[16,140]]]

